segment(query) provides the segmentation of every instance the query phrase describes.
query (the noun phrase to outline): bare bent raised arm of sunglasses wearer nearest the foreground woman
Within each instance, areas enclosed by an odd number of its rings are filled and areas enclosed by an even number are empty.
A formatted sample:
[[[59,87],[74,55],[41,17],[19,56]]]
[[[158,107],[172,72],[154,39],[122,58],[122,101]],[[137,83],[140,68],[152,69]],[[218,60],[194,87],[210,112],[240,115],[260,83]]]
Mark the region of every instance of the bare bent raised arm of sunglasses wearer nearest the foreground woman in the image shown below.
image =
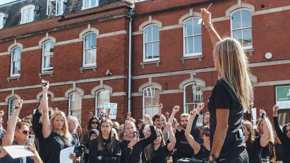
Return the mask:
[[[191,148],[193,148],[195,154],[198,153],[198,151],[200,150],[200,144],[194,140],[194,138],[193,138],[193,136],[191,136],[190,132],[191,132],[191,126],[192,126],[193,120],[196,116],[196,113],[197,113],[196,109],[193,109],[190,112],[190,118],[189,118],[189,121],[188,121],[186,129],[185,129],[186,140],[188,141]]]

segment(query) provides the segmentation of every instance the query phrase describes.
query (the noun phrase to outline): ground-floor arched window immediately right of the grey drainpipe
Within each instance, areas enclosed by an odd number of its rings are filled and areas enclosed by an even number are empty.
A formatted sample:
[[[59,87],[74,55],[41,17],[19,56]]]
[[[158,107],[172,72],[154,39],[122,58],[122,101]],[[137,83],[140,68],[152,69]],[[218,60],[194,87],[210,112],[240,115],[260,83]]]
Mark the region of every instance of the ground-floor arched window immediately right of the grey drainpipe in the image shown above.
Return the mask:
[[[149,87],[143,90],[143,114],[152,117],[158,114],[159,89]]]

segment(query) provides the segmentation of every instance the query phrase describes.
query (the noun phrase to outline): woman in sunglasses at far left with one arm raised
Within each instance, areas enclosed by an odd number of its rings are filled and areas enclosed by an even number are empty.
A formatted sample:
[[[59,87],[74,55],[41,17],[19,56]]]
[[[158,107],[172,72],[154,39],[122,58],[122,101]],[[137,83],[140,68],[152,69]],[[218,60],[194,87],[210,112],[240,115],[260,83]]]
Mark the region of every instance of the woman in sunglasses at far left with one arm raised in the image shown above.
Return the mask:
[[[35,156],[19,157],[15,159],[13,159],[3,148],[10,145],[25,145],[28,139],[28,135],[31,134],[31,132],[29,131],[30,126],[27,123],[17,122],[17,118],[22,107],[22,101],[20,98],[16,100],[14,107],[15,106],[18,107],[18,109],[16,109],[14,113],[12,113],[11,117],[7,121],[7,131],[2,141],[0,162],[42,163],[34,144],[31,145],[30,143],[28,143],[25,148],[34,153]]]

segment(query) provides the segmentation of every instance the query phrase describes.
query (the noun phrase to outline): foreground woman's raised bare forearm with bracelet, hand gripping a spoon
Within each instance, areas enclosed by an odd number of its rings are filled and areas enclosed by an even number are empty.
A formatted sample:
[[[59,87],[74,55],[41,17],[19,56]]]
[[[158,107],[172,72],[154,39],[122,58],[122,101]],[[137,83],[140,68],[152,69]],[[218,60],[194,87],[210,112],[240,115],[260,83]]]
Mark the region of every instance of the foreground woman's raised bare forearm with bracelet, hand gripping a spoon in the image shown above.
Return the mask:
[[[209,31],[210,39],[212,40],[212,45],[215,47],[215,45],[222,40],[218,33],[215,31],[215,29],[212,26],[211,23],[211,14],[206,9],[200,9],[201,19],[204,22],[205,27]]]

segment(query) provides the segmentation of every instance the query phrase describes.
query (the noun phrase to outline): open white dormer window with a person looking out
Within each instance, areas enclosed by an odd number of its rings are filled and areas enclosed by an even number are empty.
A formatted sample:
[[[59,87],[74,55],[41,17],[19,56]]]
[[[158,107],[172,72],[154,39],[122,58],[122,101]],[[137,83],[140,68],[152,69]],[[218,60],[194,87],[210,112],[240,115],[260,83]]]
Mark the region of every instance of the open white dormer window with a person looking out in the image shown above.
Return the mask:
[[[54,17],[62,15],[67,5],[67,0],[48,0],[46,15]]]

